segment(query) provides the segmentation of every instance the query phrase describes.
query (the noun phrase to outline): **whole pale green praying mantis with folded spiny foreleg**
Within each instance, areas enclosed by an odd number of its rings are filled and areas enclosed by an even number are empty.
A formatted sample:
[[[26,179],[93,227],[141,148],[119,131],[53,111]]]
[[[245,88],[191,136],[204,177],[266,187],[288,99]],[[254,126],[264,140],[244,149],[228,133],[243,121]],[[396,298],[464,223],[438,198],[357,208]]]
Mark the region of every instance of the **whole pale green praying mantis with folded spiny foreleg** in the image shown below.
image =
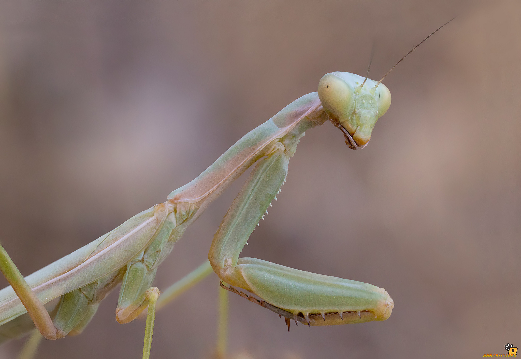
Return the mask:
[[[165,202],[26,278],[0,246],[0,270],[10,284],[0,291],[0,342],[34,328],[47,339],[79,334],[105,296],[121,283],[116,320],[129,322],[148,308],[143,350],[143,357],[148,357],[159,296],[152,286],[158,266],[210,202],[252,166],[214,235],[208,261],[175,290],[188,288],[213,270],[223,288],[283,316],[288,330],[290,320],[311,327],[389,318],[394,302],[375,285],[239,258],[277,200],[305,131],[330,121],[350,148],[367,145],[391,104],[382,80],[345,72],[324,75],[317,92],[295,100],[247,133],[193,181],[173,190]],[[166,292],[163,302],[170,297]]]

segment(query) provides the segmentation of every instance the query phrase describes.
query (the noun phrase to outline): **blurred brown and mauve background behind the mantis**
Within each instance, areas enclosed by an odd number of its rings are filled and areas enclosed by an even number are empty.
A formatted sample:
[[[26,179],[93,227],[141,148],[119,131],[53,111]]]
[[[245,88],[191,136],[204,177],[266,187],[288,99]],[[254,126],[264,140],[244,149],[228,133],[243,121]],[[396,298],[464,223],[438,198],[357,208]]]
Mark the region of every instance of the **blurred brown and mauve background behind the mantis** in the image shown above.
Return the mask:
[[[23,274],[165,200],[330,71],[384,83],[369,146],[309,131],[242,256],[388,290],[389,320],[292,326],[230,295],[244,358],[481,357],[521,347],[519,1],[0,3],[0,240]],[[160,289],[207,256],[243,178],[159,268]],[[6,285],[2,278],[2,286]],[[154,358],[204,358],[212,274],[158,313]],[[81,336],[38,358],[141,357],[117,290]],[[22,341],[0,347],[14,358]],[[242,354],[241,354],[242,353]]]

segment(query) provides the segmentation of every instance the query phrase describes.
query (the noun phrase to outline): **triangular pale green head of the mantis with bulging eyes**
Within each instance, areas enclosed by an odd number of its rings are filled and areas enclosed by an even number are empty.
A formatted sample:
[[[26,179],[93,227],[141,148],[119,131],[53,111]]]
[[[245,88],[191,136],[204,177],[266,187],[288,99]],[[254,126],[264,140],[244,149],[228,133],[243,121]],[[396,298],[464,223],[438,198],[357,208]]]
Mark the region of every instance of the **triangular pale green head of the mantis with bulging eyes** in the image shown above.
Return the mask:
[[[391,92],[383,83],[376,86],[378,82],[370,79],[362,83],[364,77],[340,71],[322,76],[318,83],[324,110],[348,131],[353,149],[369,142],[376,121],[391,105]]]

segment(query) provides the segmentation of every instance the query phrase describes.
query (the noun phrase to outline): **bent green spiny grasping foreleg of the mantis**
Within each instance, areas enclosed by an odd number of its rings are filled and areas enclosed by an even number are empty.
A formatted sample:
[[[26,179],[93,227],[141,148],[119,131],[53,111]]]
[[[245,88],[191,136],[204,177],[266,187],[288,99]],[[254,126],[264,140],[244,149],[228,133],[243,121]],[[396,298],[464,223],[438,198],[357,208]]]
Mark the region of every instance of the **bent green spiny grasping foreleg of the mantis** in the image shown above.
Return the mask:
[[[214,271],[225,283],[250,291],[269,305],[291,313],[295,320],[297,316],[302,317],[309,325],[387,319],[394,303],[387,292],[377,286],[261,259],[238,258],[286,178],[292,154],[288,148],[285,143],[259,161],[233,201],[208,254]],[[315,320],[317,316],[322,320]]]

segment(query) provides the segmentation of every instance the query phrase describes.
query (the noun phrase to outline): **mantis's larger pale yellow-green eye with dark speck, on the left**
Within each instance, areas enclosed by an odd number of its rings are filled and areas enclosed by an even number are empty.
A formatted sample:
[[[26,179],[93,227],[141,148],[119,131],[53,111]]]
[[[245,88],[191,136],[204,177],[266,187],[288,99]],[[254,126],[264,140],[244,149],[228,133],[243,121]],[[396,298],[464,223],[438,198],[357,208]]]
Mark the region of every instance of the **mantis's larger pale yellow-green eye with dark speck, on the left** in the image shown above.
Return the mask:
[[[338,119],[353,110],[353,89],[332,73],[322,76],[318,82],[318,98],[324,109]]]

